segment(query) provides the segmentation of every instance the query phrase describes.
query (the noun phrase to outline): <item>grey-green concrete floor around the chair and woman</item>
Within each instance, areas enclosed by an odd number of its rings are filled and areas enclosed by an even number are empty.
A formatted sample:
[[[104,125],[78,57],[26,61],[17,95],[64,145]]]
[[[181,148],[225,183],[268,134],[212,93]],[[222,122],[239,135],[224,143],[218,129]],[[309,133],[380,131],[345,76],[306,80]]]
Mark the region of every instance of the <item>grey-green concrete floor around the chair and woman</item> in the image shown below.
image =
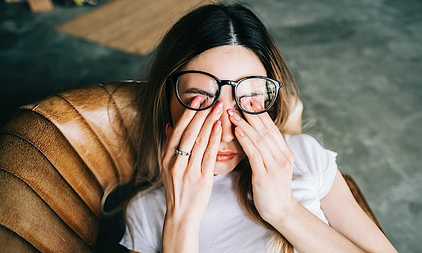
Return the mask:
[[[338,152],[397,250],[422,252],[422,1],[247,2],[298,79],[306,131]],[[143,57],[54,32],[92,9],[0,1],[0,126],[53,91],[139,75]]]

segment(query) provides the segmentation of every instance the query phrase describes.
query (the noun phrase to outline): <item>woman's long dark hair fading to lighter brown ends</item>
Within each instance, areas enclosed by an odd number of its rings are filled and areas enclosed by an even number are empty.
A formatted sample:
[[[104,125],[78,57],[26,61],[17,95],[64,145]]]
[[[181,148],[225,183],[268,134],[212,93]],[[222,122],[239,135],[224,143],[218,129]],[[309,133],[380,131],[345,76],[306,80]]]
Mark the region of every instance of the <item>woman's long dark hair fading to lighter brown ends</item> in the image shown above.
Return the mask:
[[[283,133],[289,108],[298,95],[290,70],[269,32],[251,8],[245,4],[208,4],[184,15],[170,29],[155,50],[146,79],[139,89],[139,125],[134,129],[137,162],[133,179],[134,192],[160,186],[161,157],[165,144],[165,125],[170,115],[171,88],[167,77],[210,48],[238,45],[249,48],[260,58],[267,76],[283,82],[279,98],[269,115]],[[264,221],[253,200],[251,169],[247,159],[236,167],[238,202],[245,214],[261,226],[274,231],[273,252],[293,252],[293,247],[275,228]]]

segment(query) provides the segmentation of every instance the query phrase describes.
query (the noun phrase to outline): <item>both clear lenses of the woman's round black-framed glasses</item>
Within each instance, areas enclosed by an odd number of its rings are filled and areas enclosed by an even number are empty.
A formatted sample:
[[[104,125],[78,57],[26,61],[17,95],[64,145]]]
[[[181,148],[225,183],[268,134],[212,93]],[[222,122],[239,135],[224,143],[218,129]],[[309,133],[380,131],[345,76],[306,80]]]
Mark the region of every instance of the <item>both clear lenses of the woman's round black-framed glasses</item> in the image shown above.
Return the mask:
[[[214,78],[200,73],[185,73],[179,77],[177,92],[182,103],[188,107],[191,100],[200,96],[199,108],[207,108],[217,99],[219,85]],[[238,83],[236,100],[241,108],[248,112],[260,112],[266,110],[276,95],[276,84],[270,80],[253,77],[244,79]],[[262,110],[252,109],[252,100],[257,100],[262,105]]]

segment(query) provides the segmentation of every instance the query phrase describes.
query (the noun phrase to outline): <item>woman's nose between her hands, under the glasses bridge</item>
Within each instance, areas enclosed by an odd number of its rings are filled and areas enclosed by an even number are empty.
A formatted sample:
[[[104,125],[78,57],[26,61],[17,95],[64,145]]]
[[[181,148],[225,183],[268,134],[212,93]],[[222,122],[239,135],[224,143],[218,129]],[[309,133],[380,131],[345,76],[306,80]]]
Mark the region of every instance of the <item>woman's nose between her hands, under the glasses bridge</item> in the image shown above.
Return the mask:
[[[229,143],[234,140],[234,125],[231,124],[227,110],[236,108],[236,101],[233,97],[231,87],[223,86],[222,95],[219,100],[223,102],[223,115],[220,117],[222,122],[222,142]]]

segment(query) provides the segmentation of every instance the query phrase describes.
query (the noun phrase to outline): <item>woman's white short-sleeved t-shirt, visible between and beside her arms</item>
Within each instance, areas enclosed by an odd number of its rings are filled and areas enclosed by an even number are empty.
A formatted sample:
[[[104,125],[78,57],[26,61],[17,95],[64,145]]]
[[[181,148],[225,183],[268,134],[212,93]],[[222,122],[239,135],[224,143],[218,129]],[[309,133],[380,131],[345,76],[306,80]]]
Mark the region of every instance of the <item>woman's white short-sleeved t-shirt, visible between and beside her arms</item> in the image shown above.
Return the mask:
[[[285,136],[295,154],[292,191],[301,205],[328,224],[321,198],[337,171],[337,153],[307,134]],[[238,205],[236,171],[215,176],[212,195],[200,223],[199,252],[268,252],[274,233],[251,221]],[[161,252],[166,212],[164,188],[138,193],[127,207],[128,226],[120,244],[136,252]],[[132,236],[131,236],[132,233]],[[133,238],[133,240],[132,240]]]

